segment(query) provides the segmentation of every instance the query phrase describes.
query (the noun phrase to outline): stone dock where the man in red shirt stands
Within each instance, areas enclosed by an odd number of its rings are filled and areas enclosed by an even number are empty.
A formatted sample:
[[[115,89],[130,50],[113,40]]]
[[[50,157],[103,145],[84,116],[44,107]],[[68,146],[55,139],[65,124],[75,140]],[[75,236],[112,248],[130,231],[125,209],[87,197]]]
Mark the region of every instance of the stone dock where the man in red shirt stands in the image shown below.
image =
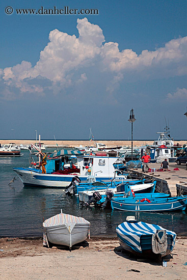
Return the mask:
[[[187,195],[187,170],[185,164],[177,165],[175,162],[169,162],[169,171],[156,171],[161,167],[161,163],[149,163],[152,172],[144,173],[141,169],[131,170],[139,177],[156,180],[156,190],[159,192],[170,193],[171,197],[177,195]],[[178,168],[178,170],[174,170]]]

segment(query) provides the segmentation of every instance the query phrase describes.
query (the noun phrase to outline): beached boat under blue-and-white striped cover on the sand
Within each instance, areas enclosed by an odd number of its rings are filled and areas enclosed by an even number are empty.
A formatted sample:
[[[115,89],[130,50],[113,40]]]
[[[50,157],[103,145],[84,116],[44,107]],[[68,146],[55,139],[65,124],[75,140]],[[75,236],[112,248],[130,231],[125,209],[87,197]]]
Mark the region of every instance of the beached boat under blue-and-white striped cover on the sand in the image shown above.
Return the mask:
[[[156,259],[169,255],[176,240],[176,233],[168,231],[158,225],[136,221],[134,216],[116,228],[120,245],[139,258]]]

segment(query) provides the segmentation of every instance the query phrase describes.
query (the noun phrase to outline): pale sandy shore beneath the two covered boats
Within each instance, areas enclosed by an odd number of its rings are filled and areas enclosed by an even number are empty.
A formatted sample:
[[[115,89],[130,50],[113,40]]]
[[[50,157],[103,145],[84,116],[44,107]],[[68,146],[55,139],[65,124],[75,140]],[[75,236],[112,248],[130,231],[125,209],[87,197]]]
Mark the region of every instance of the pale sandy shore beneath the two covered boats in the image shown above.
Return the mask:
[[[117,238],[91,238],[72,251],[46,248],[41,239],[2,238],[0,250],[0,278],[4,280],[179,280],[186,279],[187,275],[187,239],[184,237],[177,238],[167,267],[125,254]]]

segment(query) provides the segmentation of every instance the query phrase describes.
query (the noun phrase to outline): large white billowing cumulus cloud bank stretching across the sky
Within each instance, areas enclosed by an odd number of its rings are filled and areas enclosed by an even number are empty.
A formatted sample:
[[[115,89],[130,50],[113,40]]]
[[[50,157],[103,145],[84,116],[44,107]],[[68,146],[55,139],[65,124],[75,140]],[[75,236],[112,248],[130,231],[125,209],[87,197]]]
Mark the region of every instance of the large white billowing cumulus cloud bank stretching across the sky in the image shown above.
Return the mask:
[[[77,30],[78,38],[52,30],[49,43],[40,52],[34,67],[30,62],[22,61],[1,70],[6,92],[17,89],[20,94],[44,94],[52,85],[54,93],[58,93],[60,89],[88,82],[90,69],[95,73],[93,79],[98,73],[106,77],[106,92],[115,91],[124,78],[133,81],[132,76],[136,80],[187,73],[187,37],[173,39],[154,51],[143,50],[138,55],[131,49],[120,51],[116,42],[105,42],[100,27],[87,18],[77,19]],[[45,79],[51,82],[50,86],[46,86]],[[168,94],[168,97],[175,98],[176,94],[179,93]]]

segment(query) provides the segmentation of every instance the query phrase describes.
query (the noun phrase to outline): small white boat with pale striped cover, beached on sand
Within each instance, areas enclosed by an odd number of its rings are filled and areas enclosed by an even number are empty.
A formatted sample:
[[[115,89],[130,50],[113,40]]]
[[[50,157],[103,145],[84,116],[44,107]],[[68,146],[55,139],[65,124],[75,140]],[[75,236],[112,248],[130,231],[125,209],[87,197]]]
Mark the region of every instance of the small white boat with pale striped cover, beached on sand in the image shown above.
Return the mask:
[[[83,242],[89,235],[90,222],[84,218],[61,213],[43,222],[43,245],[48,242],[68,246]]]

